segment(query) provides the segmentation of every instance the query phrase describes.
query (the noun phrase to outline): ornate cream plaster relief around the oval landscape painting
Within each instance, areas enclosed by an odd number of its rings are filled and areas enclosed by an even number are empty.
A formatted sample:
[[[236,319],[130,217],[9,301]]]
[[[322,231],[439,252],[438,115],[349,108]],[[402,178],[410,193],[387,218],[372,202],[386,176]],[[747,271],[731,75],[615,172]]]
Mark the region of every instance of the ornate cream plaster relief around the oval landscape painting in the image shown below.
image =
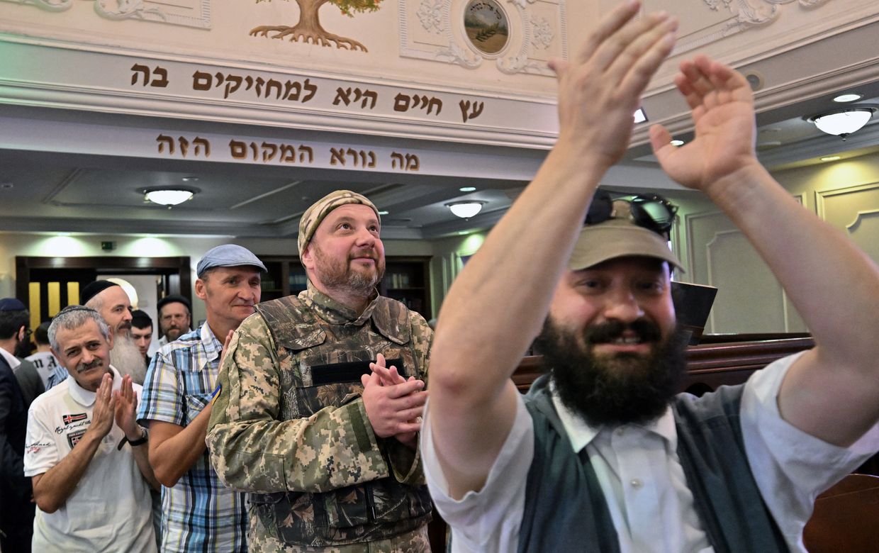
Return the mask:
[[[512,7],[507,11],[507,19],[510,23],[510,43],[500,55],[485,55],[469,46],[469,40],[463,33],[463,26],[454,24],[463,18],[463,10],[467,5],[466,0],[399,0],[398,25],[400,28],[400,55],[403,57],[430,60],[433,62],[454,63],[467,69],[476,69],[482,66],[485,60],[494,60],[496,67],[502,73],[514,75],[527,73],[531,75],[555,76],[555,73],[547,67],[545,62],[530,57],[534,48],[545,47],[547,21],[532,19],[531,4],[540,0],[506,0],[500,4]],[[561,54],[564,59],[568,58],[568,32],[566,24],[565,2],[566,0],[543,0],[548,4],[556,4],[558,26],[556,33],[560,41]],[[410,18],[407,8],[410,4],[418,2],[417,18]],[[453,17],[454,16],[454,17]],[[444,46],[437,47],[427,44],[415,44],[411,40],[410,25],[420,25],[425,31],[440,34],[445,42]],[[541,25],[541,30],[535,30],[534,25]]]

